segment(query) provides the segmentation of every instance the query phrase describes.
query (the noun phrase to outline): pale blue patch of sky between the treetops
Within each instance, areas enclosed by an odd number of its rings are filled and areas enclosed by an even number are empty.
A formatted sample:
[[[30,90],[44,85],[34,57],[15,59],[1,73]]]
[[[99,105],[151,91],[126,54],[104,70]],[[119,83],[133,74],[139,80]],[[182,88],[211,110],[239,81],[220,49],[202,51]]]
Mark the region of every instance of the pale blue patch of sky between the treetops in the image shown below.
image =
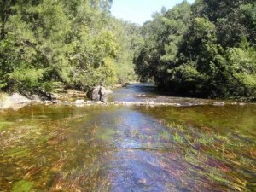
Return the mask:
[[[163,6],[172,9],[177,3],[183,0],[113,0],[111,13],[116,18],[131,21],[143,25],[147,20],[151,20],[154,12],[160,12]],[[195,0],[187,0],[194,3]]]

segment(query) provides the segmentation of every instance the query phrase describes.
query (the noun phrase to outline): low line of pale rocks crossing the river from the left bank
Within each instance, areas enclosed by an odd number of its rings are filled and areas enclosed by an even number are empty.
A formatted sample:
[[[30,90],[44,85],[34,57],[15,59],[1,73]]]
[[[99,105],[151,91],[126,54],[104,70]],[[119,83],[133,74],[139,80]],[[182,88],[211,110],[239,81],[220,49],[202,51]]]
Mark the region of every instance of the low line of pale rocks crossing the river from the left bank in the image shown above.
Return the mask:
[[[80,98],[79,98],[80,97]],[[157,98],[146,98],[144,102],[127,102],[127,101],[113,101],[113,102],[94,102],[90,100],[84,100],[85,95],[80,92],[69,91],[68,94],[58,95],[58,99],[55,100],[41,100],[41,99],[28,99],[25,96],[21,96],[18,93],[12,96],[4,96],[2,102],[0,102],[0,110],[13,109],[18,110],[27,105],[41,104],[41,105],[63,105],[63,106],[76,106],[76,107],[86,107],[86,106],[148,106],[148,107],[192,107],[192,106],[226,106],[226,105],[238,105],[245,106],[249,103],[246,102],[219,102],[213,100],[197,100],[193,98],[176,98],[175,100],[168,98],[165,99],[166,102],[162,102],[162,97]],[[79,98],[79,99],[76,99]],[[61,100],[59,100],[61,99]]]

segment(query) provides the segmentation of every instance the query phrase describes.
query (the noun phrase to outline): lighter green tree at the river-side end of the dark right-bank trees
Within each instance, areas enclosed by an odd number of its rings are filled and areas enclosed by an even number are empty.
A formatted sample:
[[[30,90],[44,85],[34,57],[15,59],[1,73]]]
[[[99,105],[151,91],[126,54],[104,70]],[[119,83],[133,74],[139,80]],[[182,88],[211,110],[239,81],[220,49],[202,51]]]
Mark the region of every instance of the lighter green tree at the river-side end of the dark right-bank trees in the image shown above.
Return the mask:
[[[189,3],[183,2],[164,15],[154,15],[153,21],[143,25],[144,44],[135,57],[136,71],[142,80],[154,79],[156,84],[166,84],[166,70],[177,60],[189,20]]]

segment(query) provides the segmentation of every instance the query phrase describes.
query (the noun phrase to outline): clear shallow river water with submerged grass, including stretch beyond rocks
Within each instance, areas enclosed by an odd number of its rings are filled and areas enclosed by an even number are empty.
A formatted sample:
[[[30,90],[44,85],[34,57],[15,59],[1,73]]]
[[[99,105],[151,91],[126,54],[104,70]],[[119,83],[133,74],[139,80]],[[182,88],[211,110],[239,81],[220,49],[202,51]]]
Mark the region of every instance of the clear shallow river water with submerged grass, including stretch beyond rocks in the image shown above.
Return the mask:
[[[28,106],[0,117],[0,191],[255,191],[256,105],[162,96],[181,107]]]

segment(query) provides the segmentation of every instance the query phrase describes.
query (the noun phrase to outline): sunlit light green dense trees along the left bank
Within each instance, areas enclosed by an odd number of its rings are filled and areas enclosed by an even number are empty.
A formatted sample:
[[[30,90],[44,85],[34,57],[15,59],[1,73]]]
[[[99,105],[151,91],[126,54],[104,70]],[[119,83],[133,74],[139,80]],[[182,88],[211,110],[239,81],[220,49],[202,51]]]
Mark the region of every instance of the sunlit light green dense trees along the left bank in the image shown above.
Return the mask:
[[[0,89],[87,90],[135,79],[140,27],[114,19],[110,0],[0,2]]]

